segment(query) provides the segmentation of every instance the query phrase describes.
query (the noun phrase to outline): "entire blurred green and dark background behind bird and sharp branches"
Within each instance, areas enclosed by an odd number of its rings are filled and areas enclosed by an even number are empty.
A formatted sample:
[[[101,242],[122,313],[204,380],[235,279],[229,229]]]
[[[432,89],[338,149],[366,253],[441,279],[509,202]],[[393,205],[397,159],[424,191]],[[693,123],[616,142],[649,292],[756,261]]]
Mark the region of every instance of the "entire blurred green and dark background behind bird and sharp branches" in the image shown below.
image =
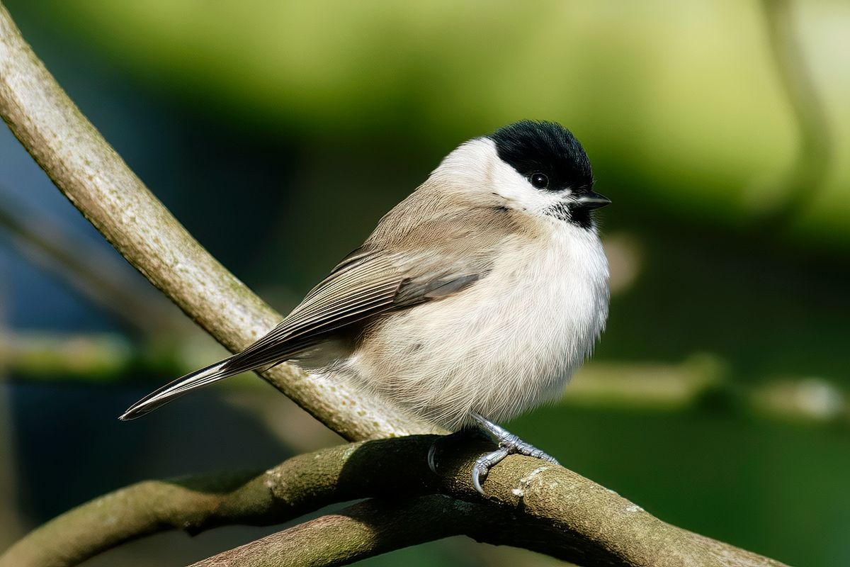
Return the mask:
[[[608,330],[508,424],[661,519],[850,564],[850,4],[6,0],[82,111],[281,311],[465,139],[562,122],[591,156]],[[256,377],[116,416],[223,354],[0,131],[0,548],[150,477],[339,442]],[[181,565],[269,530],[156,536]],[[375,558],[547,565],[462,538]]]

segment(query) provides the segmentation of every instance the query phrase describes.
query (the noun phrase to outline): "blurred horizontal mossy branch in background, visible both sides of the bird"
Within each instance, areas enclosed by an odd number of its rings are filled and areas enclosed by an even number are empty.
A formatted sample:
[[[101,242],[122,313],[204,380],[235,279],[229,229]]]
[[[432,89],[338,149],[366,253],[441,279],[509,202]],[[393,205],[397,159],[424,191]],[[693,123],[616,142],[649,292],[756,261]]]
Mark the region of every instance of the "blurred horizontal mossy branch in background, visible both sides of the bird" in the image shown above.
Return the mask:
[[[19,381],[120,382],[133,371],[183,374],[220,353],[198,349],[190,340],[138,345],[111,333],[0,331],[0,368]],[[570,388],[564,406],[640,408],[643,411],[692,411],[710,407],[716,413],[744,411],[758,417],[822,423],[850,423],[847,392],[819,377],[770,377],[734,383],[723,360],[695,354],[680,364],[664,362],[587,362]],[[0,376],[0,380],[3,377]],[[233,389],[252,387],[237,382]],[[706,403],[707,402],[707,403]],[[275,411],[283,411],[275,406]],[[312,447],[311,447],[312,448]]]

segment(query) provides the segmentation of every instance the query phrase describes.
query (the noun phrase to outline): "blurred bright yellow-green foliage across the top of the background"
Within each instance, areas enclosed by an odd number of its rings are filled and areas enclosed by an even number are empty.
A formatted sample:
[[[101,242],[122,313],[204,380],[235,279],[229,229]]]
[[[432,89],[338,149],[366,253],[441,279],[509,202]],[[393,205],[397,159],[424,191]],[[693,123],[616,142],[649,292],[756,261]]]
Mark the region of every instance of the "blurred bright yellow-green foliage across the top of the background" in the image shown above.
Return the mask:
[[[768,3],[769,4],[769,3]],[[40,18],[157,88],[318,139],[438,145],[524,117],[569,125],[618,202],[745,224],[774,207],[796,132],[758,3],[53,0]],[[791,31],[836,156],[793,235],[850,244],[850,9],[799,3]],[[632,186],[640,195],[629,195]],[[618,191],[618,192],[619,192]]]

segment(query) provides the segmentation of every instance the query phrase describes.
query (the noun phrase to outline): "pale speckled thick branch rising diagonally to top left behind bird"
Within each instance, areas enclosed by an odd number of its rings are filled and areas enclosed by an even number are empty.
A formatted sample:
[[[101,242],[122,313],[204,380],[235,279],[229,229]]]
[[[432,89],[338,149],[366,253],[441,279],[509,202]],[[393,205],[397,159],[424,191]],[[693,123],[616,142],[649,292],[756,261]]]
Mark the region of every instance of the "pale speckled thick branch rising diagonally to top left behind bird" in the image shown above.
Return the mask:
[[[232,351],[281,317],[204,250],[59,87],[0,5],[0,114],[59,190],[133,267]],[[280,365],[264,375],[346,439],[430,433],[380,400]],[[117,413],[117,411],[116,411]]]

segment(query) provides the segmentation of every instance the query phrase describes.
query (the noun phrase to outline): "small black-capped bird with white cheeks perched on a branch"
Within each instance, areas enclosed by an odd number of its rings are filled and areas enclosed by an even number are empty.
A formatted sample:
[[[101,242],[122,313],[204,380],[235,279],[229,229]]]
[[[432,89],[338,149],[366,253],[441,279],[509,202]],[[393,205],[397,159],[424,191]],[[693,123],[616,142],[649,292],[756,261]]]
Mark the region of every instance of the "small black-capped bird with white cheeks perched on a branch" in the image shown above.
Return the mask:
[[[290,361],[352,381],[449,430],[556,462],[496,425],[558,397],[608,316],[590,161],[555,122],[516,122],[453,150],[363,245],[256,343],[133,404],[133,419],[240,372]],[[428,455],[431,468],[433,447]]]

